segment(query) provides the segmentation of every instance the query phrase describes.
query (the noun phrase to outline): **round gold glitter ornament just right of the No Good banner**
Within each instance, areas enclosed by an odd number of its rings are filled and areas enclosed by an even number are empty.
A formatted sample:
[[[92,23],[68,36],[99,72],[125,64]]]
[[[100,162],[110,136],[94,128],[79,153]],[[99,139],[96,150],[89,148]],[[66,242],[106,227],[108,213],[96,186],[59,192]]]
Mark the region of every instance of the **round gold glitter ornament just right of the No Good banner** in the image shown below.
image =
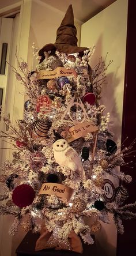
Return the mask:
[[[81,213],[86,208],[86,202],[80,198],[75,198],[71,206],[71,212]]]

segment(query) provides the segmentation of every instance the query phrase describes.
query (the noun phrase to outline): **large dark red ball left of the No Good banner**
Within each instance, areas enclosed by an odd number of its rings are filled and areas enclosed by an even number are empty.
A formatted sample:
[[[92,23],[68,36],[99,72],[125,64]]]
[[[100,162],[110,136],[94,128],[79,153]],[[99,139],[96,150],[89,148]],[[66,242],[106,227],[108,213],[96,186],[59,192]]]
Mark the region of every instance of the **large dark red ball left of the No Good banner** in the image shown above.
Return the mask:
[[[35,198],[35,191],[30,185],[22,184],[13,190],[12,200],[20,208],[31,205]]]

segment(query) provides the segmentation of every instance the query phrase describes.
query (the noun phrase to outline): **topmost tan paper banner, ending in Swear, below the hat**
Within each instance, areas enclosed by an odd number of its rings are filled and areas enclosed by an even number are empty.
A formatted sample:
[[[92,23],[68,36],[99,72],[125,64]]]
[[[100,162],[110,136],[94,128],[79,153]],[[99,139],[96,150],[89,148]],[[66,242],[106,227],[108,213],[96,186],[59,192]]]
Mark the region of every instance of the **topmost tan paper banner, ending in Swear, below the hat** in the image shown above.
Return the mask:
[[[74,69],[66,69],[65,67],[56,67],[54,70],[40,70],[38,73],[38,79],[51,79],[55,77],[69,77],[77,76],[77,73]]]

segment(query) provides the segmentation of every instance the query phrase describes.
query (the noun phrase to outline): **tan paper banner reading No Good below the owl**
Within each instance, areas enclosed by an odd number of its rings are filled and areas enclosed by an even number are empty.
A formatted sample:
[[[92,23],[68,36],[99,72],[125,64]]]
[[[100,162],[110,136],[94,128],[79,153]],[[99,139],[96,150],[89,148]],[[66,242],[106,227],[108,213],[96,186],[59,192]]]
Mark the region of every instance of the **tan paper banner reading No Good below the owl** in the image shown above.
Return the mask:
[[[73,192],[74,190],[71,189],[71,187],[67,187],[62,184],[43,183],[39,191],[39,195],[41,194],[56,195],[57,197],[66,198],[67,201],[69,201]]]

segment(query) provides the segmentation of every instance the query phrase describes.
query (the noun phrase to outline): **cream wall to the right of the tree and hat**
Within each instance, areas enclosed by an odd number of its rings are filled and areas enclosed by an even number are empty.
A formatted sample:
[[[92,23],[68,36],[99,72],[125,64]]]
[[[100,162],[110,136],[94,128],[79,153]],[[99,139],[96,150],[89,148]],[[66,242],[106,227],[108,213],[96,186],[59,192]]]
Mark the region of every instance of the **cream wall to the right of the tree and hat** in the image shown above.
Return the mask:
[[[90,65],[95,66],[99,58],[108,52],[107,63],[113,63],[107,70],[107,84],[103,86],[101,103],[111,114],[109,130],[114,132],[114,140],[120,142],[122,130],[122,106],[124,88],[124,67],[126,57],[127,0],[117,0],[102,12],[85,22],[81,28],[81,46],[96,46]],[[104,224],[96,236],[100,255],[116,255],[116,228]]]

